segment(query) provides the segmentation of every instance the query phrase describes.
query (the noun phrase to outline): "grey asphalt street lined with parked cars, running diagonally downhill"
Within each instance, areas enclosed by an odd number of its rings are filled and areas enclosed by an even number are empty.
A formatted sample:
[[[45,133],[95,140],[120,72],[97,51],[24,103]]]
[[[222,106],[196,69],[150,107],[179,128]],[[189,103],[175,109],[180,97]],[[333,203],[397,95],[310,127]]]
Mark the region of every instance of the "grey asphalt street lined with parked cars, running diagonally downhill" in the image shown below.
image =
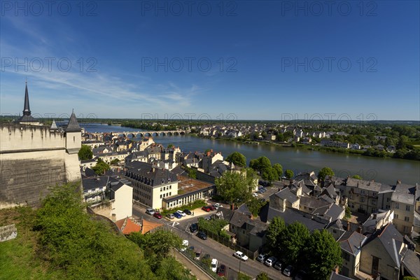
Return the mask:
[[[195,211],[197,213],[198,211]],[[214,212],[213,212],[214,213]],[[206,214],[209,215],[209,214]],[[271,279],[290,279],[287,276],[284,276],[279,272],[278,270],[267,267],[263,265],[262,263],[255,261],[255,260],[247,260],[246,262],[241,261],[233,256],[233,251],[231,248],[228,248],[217,241],[214,241],[213,239],[207,239],[202,240],[198,237],[195,237],[195,235],[192,235],[188,228],[191,223],[197,222],[197,214],[193,216],[186,216],[181,219],[175,219],[178,223],[175,226],[173,225],[173,221],[167,221],[165,219],[158,220],[156,218],[153,218],[153,216],[150,216],[146,214],[146,209],[142,207],[138,207],[137,205],[134,205],[133,207],[133,216],[136,217],[143,217],[144,219],[148,221],[153,222],[160,222],[168,225],[169,227],[173,228],[173,232],[179,235],[181,239],[187,239],[189,245],[188,246],[194,246],[195,249],[202,250],[202,255],[209,254],[211,255],[211,258],[216,258],[219,262],[219,265],[224,264],[227,267],[230,267],[231,269],[234,269],[236,271],[244,272],[245,274],[248,274],[249,276],[257,276],[260,274],[260,272],[266,272],[267,275]]]

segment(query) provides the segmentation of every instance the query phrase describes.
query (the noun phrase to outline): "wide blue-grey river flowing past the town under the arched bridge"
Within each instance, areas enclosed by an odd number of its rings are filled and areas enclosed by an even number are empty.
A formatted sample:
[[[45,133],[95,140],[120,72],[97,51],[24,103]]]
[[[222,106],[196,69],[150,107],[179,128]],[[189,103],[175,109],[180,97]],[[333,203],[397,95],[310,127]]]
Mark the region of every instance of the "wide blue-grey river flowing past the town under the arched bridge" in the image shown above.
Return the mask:
[[[130,127],[100,124],[80,124],[86,132],[132,132],[141,131]],[[207,148],[220,151],[225,157],[238,151],[245,155],[247,162],[265,155],[272,164],[280,163],[283,170],[291,169],[295,174],[330,167],[336,176],[346,177],[359,174],[365,180],[395,184],[420,183],[420,162],[391,158],[372,158],[363,155],[346,155],[325,151],[309,151],[302,148],[286,148],[267,144],[243,144],[236,141],[203,139],[190,135],[154,137],[156,143],[179,146],[181,151],[205,151]]]

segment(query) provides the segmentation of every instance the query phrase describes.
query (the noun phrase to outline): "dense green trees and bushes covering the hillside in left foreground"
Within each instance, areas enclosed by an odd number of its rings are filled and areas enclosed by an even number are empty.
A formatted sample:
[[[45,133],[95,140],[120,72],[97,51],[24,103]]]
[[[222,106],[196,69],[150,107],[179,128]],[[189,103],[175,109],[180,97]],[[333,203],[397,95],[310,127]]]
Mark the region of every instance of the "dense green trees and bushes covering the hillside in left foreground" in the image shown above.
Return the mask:
[[[111,225],[88,215],[78,184],[52,188],[36,212],[36,258],[66,279],[195,279],[169,255],[181,239],[172,232],[116,235]]]

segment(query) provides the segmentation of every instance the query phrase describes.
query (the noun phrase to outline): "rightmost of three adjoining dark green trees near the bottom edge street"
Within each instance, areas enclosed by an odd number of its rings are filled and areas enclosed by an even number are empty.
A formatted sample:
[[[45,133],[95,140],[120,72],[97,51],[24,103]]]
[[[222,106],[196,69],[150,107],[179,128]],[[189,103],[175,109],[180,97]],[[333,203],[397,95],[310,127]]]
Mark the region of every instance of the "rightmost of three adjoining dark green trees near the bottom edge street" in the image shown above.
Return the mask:
[[[325,280],[332,269],[342,264],[342,251],[334,237],[326,230],[315,230],[307,241],[305,258],[312,279]]]

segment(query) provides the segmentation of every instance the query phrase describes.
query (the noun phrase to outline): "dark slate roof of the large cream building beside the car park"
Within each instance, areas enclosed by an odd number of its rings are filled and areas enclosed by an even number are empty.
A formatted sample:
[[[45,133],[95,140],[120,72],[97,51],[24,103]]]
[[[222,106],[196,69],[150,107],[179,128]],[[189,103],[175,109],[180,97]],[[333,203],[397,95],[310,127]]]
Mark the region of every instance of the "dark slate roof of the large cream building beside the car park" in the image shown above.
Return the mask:
[[[125,172],[125,177],[148,186],[161,186],[177,181],[176,174],[167,169],[153,167],[150,163],[134,161],[127,164],[126,167],[127,172]]]

